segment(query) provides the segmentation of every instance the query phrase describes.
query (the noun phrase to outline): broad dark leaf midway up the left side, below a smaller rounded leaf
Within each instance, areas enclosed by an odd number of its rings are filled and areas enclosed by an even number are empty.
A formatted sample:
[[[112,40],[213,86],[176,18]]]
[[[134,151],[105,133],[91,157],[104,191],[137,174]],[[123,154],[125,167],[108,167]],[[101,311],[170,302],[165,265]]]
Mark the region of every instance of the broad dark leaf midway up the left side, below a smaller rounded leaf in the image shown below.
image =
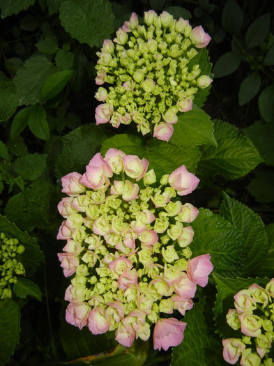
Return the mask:
[[[50,191],[46,181],[34,181],[23,192],[10,197],[6,204],[6,217],[20,229],[45,229],[50,224]]]

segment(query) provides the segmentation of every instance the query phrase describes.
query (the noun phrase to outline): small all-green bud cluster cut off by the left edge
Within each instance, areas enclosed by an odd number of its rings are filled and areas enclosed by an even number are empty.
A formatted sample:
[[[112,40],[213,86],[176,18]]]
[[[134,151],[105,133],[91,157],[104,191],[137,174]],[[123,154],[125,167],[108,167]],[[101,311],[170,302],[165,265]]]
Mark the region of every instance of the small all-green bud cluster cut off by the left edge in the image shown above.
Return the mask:
[[[24,275],[24,266],[18,261],[17,255],[24,252],[24,246],[18,239],[7,238],[0,233],[0,298],[11,298],[11,284],[17,282],[17,275]]]

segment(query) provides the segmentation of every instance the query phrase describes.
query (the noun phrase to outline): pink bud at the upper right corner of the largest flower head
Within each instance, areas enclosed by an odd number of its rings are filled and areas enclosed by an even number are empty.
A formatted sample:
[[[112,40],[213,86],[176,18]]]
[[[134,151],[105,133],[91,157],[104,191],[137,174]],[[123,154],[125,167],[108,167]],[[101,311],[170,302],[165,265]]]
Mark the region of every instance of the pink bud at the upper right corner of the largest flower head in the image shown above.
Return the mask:
[[[191,193],[197,187],[199,179],[190,173],[185,165],[175,169],[169,175],[169,185],[178,192],[178,195],[185,196]]]

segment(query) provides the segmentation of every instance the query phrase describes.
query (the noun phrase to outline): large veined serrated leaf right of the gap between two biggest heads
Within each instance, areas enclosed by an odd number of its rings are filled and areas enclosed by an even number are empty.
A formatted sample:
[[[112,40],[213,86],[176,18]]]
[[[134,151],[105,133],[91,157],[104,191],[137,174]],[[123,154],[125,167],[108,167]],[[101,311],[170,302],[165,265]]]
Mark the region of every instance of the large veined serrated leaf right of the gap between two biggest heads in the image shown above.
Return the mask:
[[[241,130],[224,121],[213,122],[218,147],[201,146],[197,176],[220,174],[224,178],[237,179],[262,162],[257,148]]]

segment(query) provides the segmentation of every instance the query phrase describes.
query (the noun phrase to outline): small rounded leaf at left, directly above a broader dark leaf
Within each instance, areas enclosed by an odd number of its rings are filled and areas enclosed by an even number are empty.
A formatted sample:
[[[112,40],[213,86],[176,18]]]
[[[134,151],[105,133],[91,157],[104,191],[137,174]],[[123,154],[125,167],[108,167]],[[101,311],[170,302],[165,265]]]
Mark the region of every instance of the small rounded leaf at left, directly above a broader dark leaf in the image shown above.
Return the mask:
[[[26,181],[34,181],[47,166],[47,155],[38,153],[24,155],[13,162],[13,168]]]

